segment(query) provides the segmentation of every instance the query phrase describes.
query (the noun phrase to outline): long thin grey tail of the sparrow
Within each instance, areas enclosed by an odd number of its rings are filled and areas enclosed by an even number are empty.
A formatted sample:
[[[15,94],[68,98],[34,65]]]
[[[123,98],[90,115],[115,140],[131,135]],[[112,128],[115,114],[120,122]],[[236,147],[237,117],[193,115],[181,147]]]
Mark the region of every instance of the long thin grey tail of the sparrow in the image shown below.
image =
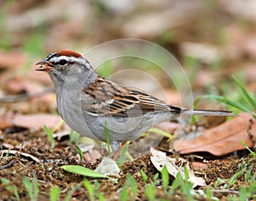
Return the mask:
[[[189,110],[189,109],[183,109],[181,111],[181,115],[186,116],[236,116],[231,111],[218,111],[218,110]]]

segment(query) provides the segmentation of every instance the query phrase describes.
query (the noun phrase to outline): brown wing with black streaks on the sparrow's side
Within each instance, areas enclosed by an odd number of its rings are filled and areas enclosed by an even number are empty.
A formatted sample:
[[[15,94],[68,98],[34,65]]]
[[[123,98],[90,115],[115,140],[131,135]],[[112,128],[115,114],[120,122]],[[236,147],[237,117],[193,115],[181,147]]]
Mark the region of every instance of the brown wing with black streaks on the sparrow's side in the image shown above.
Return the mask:
[[[96,115],[136,116],[148,112],[180,112],[179,107],[169,106],[153,96],[127,89],[101,77],[84,89],[82,98],[85,110]]]

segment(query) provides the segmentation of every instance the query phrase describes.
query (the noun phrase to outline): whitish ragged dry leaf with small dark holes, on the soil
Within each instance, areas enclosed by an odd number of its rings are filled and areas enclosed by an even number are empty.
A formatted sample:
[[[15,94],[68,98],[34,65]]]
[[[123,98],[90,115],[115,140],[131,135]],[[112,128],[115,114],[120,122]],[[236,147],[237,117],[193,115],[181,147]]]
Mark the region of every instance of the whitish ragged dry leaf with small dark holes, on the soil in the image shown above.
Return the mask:
[[[178,158],[179,164],[176,164],[177,158],[170,158],[166,156],[166,152],[161,152],[158,150],[155,150],[154,148],[150,149],[150,152],[152,156],[150,157],[150,160],[152,164],[154,164],[154,167],[161,171],[163,167],[166,165],[166,168],[170,175],[173,177],[176,177],[177,173],[179,172],[183,179],[185,179],[184,174],[184,164],[189,164],[188,161],[186,161],[183,158]],[[189,170],[189,181],[193,183],[193,187],[203,187],[206,185],[206,182],[203,178],[195,176],[194,170],[187,165],[187,169]]]

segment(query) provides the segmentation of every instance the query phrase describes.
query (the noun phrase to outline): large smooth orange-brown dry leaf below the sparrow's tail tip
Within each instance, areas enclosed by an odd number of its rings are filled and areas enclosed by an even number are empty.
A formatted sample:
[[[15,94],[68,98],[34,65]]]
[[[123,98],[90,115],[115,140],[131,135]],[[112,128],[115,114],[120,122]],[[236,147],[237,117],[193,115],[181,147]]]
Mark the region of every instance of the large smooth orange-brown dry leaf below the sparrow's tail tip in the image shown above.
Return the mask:
[[[223,156],[230,152],[245,149],[241,141],[247,146],[253,146],[251,136],[247,129],[256,137],[256,122],[250,123],[252,115],[243,112],[238,117],[225,122],[218,127],[207,129],[193,140],[177,140],[173,142],[176,152],[185,154],[191,152],[210,152],[215,156]]]

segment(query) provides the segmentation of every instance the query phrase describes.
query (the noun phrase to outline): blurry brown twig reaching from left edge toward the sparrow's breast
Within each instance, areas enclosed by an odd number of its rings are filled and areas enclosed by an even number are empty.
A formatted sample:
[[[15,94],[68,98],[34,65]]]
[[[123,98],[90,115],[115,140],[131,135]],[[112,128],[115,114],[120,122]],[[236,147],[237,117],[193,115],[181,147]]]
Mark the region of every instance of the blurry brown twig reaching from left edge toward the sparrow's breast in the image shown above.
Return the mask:
[[[5,95],[0,98],[0,103],[9,103],[9,102],[20,102],[24,100],[29,100],[35,97],[40,97],[42,95],[48,94],[50,92],[54,92],[54,88],[49,87],[43,91],[32,93],[32,94],[22,94],[22,95]]]

